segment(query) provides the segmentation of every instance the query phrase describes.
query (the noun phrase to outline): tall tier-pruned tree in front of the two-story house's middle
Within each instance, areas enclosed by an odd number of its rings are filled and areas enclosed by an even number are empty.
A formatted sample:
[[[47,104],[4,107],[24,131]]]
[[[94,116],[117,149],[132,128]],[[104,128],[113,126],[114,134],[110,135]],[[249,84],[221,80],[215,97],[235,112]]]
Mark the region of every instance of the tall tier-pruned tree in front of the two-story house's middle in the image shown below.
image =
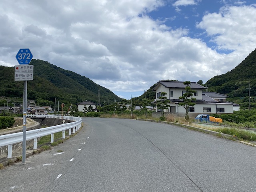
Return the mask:
[[[196,101],[196,98],[190,98],[190,97],[193,96],[193,93],[195,93],[196,91],[192,90],[191,87],[189,86],[191,84],[190,81],[185,81],[183,84],[186,85],[185,87],[186,93],[184,93],[183,96],[179,97],[179,99],[183,100],[183,102],[179,103],[179,106],[183,106],[185,108],[186,110],[185,119],[188,120],[189,119],[188,108],[196,104],[193,102],[193,101]]]

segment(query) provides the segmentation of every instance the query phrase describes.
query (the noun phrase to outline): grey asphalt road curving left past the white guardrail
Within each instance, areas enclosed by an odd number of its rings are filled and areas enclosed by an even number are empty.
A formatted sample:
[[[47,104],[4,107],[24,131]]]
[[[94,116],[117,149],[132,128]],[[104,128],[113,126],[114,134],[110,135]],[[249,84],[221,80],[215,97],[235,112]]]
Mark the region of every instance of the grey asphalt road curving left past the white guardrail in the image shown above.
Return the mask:
[[[60,146],[0,170],[0,191],[256,191],[252,146],[155,122],[83,122]]]

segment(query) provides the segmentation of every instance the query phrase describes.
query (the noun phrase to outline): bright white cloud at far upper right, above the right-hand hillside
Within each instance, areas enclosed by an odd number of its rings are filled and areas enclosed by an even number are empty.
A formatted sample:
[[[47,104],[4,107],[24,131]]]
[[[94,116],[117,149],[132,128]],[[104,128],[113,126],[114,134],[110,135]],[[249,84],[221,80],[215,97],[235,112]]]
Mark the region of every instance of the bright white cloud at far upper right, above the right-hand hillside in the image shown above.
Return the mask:
[[[248,53],[256,42],[255,15],[254,6],[224,6],[219,13],[206,14],[197,27],[206,30],[217,49]]]

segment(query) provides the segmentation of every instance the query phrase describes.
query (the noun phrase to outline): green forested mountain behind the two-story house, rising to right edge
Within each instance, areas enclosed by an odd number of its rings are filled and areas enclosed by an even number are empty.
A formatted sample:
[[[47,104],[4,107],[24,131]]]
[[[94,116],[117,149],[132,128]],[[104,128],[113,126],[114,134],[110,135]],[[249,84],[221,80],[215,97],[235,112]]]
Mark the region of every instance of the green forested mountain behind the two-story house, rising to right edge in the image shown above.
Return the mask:
[[[242,108],[248,108],[249,103],[249,84],[251,107],[256,108],[256,50],[251,52],[236,68],[226,74],[214,76],[205,84],[202,80],[197,83],[214,91],[228,96],[228,100],[240,104]],[[154,100],[155,92],[152,92],[155,84],[150,87],[142,96],[134,98],[136,103],[146,96]],[[254,103],[255,101],[255,103]]]

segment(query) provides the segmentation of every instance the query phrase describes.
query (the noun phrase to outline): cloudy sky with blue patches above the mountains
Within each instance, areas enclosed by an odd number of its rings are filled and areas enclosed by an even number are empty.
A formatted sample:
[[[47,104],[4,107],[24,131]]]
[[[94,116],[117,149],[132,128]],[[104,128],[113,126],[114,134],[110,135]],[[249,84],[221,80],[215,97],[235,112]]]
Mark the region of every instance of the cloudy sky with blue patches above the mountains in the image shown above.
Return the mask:
[[[130,99],[232,70],[256,48],[255,18],[255,0],[1,0],[0,65],[29,48]]]

